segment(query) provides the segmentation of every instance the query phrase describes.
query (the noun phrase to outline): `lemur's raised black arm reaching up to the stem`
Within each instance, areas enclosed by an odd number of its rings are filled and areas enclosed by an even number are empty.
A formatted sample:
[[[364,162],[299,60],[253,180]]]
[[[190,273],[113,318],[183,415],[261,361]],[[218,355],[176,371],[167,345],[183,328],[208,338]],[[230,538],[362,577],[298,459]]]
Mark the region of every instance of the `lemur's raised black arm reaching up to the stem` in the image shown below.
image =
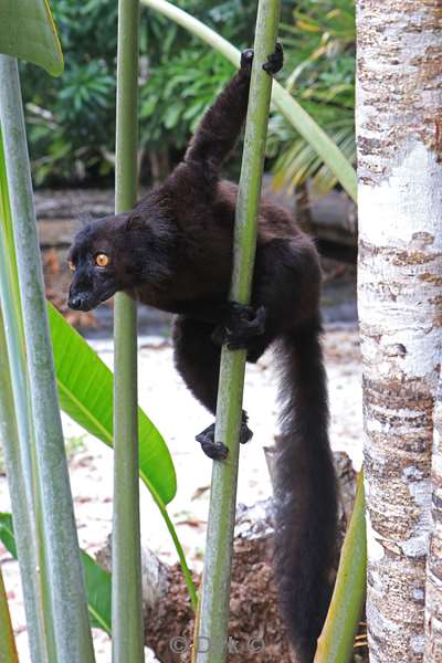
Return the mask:
[[[186,151],[185,162],[217,177],[233,149],[248,112],[253,51],[241,54],[241,67],[203,116]]]

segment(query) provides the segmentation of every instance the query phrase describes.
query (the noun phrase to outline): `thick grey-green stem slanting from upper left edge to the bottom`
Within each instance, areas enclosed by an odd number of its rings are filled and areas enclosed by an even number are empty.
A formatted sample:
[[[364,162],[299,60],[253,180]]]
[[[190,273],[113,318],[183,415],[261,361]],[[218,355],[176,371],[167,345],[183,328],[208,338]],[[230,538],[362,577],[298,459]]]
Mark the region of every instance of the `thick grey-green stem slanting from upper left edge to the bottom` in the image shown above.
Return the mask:
[[[32,394],[57,663],[94,661],[36,236],[17,60],[0,55],[0,122],[14,219],[14,241]]]

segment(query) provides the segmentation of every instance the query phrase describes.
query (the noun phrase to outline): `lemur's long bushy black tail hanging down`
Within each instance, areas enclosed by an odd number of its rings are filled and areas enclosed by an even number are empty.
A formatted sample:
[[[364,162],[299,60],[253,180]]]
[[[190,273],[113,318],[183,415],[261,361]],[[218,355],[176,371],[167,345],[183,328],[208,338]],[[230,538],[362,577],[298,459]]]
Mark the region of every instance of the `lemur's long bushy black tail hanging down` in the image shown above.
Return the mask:
[[[276,460],[275,562],[281,607],[299,663],[312,663],[332,597],[337,488],[328,443],[320,323],[285,334]]]

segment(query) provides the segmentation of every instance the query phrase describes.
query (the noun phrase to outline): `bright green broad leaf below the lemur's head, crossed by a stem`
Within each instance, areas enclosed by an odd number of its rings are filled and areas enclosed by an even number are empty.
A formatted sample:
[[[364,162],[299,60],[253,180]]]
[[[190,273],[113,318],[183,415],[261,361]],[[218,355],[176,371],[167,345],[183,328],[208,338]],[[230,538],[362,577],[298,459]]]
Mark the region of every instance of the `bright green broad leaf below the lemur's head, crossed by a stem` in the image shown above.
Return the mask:
[[[48,313],[61,407],[112,446],[113,373],[51,304]],[[154,496],[167,504],[177,490],[173,464],[162,436],[141,409],[138,431],[139,474]]]

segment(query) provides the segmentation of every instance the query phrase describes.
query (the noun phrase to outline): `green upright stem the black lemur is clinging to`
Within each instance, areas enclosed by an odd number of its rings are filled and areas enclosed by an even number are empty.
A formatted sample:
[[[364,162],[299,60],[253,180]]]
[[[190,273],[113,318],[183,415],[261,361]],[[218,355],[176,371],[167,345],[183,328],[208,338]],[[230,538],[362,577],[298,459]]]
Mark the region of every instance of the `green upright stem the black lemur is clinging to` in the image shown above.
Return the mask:
[[[265,156],[272,77],[262,65],[275,49],[280,0],[260,0],[254,60],[236,203],[233,274],[230,298],[249,304],[256,248],[257,209]],[[221,352],[215,439],[229,448],[225,461],[213,463],[208,537],[204,556],[197,663],[225,661],[230,576],[235,520],[239,433],[244,385],[245,350]]]

